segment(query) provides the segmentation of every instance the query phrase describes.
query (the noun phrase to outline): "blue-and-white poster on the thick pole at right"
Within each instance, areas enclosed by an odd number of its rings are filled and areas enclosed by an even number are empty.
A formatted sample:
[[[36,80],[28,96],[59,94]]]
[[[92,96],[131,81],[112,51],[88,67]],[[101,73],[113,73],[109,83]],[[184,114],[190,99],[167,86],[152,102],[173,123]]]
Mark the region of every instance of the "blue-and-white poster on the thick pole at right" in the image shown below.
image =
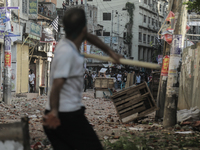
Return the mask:
[[[182,52],[182,35],[173,35],[172,48],[170,54],[180,55]]]

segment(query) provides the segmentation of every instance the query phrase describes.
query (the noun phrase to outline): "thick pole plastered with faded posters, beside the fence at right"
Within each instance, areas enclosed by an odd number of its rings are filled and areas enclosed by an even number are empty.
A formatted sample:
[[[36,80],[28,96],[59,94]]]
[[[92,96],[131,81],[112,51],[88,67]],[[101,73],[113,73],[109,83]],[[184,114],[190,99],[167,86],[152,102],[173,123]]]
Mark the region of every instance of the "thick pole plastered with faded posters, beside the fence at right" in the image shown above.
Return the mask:
[[[176,9],[178,19],[175,25],[172,48],[170,52],[169,72],[166,88],[166,99],[163,126],[171,127],[177,123],[177,103],[178,103],[178,71],[181,52],[184,47],[184,38],[186,34],[187,9],[183,5],[188,0],[174,0],[173,7]],[[174,6],[175,5],[175,6]]]

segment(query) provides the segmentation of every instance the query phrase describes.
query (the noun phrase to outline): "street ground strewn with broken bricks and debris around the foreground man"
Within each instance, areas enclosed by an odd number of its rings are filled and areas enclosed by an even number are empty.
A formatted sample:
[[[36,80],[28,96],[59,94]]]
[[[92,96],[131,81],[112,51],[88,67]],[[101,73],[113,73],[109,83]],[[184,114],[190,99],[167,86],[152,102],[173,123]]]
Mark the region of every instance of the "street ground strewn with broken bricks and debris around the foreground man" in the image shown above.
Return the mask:
[[[20,121],[23,116],[29,117],[32,150],[52,150],[42,127],[46,100],[46,96],[41,96],[34,99],[16,98],[12,105],[0,103],[0,124]],[[194,128],[195,125],[200,126],[200,121],[185,121],[165,129],[162,122],[155,122],[155,113],[150,113],[142,120],[122,123],[113,102],[103,98],[94,99],[92,90],[83,93],[83,103],[86,106],[85,115],[105,150],[127,150],[125,148],[128,146],[131,150],[200,149],[200,133]]]

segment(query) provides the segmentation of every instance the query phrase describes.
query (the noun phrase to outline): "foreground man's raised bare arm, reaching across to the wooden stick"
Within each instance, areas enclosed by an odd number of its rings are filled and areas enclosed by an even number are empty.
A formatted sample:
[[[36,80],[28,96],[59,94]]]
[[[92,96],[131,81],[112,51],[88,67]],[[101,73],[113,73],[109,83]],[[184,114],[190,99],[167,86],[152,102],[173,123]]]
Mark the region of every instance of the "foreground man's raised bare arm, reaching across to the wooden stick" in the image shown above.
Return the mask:
[[[123,58],[121,55],[116,54],[108,45],[102,42],[96,35],[87,33],[86,37],[87,41],[91,44],[95,45],[96,47],[100,48],[102,51],[107,53],[110,57],[112,57],[116,63],[120,63],[119,59]]]

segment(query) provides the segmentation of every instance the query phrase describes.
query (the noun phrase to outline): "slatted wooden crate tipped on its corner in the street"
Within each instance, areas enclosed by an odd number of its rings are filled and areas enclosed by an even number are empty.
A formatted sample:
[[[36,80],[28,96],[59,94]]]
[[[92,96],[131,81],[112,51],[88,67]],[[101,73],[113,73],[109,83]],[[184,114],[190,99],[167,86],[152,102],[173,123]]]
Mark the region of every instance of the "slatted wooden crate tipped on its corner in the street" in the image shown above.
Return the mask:
[[[158,109],[146,82],[121,90],[111,99],[122,123],[144,117]]]

